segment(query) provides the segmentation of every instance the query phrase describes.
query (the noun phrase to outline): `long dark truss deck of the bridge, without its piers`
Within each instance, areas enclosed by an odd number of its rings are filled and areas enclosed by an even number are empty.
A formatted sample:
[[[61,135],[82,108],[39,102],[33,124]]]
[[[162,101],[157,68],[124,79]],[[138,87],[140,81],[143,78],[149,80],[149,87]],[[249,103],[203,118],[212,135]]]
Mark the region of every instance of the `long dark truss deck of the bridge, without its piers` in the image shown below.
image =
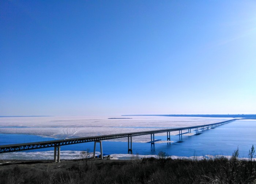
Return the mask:
[[[117,138],[125,138],[125,137],[129,138],[129,137],[134,137],[134,136],[139,136],[139,135],[158,134],[158,133],[165,133],[165,132],[179,131],[179,130],[198,129],[198,128],[204,128],[204,127],[208,128],[211,126],[218,126],[221,124],[229,123],[234,120],[237,120],[237,119],[231,119],[231,120],[218,122],[218,123],[203,124],[203,125],[190,126],[190,127],[180,127],[180,128],[173,128],[173,129],[140,131],[140,132],[123,133],[123,134],[111,134],[111,135],[99,135],[99,136],[92,136],[92,137],[60,139],[60,140],[54,140],[54,141],[42,141],[42,142],[31,142],[31,143],[21,143],[21,144],[12,144],[12,145],[1,145],[0,153],[41,149],[41,148],[46,148],[46,147],[57,147],[57,146],[78,144],[78,143],[84,143],[84,142],[103,141],[103,140],[108,140],[108,139],[117,139]]]

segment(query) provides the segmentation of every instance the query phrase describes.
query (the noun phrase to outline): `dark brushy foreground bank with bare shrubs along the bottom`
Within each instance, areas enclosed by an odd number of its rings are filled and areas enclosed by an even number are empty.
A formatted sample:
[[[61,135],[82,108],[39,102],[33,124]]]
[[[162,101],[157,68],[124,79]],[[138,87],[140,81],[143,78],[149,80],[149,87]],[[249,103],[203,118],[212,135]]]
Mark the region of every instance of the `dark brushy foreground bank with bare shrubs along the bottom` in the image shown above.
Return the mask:
[[[252,157],[251,157],[252,158]],[[159,159],[130,161],[80,161],[44,163],[44,167],[26,164],[0,166],[1,184],[250,184],[256,183],[256,162],[231,159],[172,160],[165,154]],[[60,164],[61,164],[60,163]],[[69,164],[68,164],[69,163]],[[52,165],[55,168],[52,168]],[[59,165],[59,166],[58,166]]]

